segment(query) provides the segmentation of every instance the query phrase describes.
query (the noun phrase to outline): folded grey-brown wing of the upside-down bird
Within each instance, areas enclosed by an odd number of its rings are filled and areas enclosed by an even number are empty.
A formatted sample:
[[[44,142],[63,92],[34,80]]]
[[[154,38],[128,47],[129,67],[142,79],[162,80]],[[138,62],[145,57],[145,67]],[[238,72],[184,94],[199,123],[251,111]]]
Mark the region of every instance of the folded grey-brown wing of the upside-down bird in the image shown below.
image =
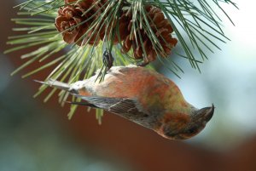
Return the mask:
[[[90,105],[96,105],[98,108],[102,108],[106,111],[111,111],[119,115],[148,115],[148,112],[138,104],[137,100],[131,100],[129,98],[108,98],[99,96],[83,96],[74,94],[76,97],[86,100],[86,103]],[[81,104],[78,104],[81,105]]]

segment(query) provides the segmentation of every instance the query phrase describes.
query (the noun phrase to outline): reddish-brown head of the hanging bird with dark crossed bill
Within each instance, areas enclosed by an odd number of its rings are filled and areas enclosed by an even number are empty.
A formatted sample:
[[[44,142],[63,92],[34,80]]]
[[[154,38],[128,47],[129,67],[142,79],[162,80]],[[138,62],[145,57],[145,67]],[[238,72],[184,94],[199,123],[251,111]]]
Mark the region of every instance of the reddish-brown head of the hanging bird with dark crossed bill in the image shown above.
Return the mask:
[[[177,114],[162,123],[158,134],[170,140],[185,140],[199,134],[211,120],[214,105],[200,110],[192,110],[188,114]]]

